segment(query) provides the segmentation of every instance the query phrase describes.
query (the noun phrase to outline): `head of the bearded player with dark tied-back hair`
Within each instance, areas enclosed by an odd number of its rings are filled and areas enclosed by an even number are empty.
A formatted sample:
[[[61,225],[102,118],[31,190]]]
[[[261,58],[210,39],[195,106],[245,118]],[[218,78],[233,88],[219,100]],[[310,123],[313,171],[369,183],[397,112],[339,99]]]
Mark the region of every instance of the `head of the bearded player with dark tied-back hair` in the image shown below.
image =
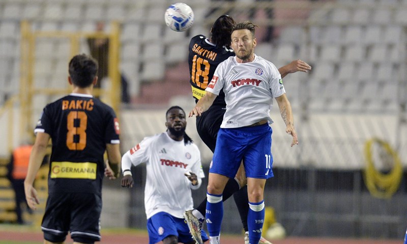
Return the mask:
[[[184,142],[192,142],[192,139],[185,133],[187,120],[184,109],[179,106],[170,107],[165,113],[165,126],[167,131],[175,137],[184,137]]]

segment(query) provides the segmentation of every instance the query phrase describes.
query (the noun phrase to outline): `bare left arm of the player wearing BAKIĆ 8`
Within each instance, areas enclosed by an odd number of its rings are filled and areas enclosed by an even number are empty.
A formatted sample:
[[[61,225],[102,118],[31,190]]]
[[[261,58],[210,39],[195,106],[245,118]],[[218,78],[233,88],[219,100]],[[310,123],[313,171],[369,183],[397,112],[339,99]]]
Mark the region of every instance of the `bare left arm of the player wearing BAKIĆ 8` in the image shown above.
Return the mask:
[[[25,200],[27,201],[28,207],[34,210],[37,209],[37,205],[40,204],[37,191],[33,187],[34,179],[41,167],[42,160],[47,153],[48,141],[49,135],[47,133],[37,133],[33,150],[30,155],[30,162],[28,163],[27,176],[24,180]]]

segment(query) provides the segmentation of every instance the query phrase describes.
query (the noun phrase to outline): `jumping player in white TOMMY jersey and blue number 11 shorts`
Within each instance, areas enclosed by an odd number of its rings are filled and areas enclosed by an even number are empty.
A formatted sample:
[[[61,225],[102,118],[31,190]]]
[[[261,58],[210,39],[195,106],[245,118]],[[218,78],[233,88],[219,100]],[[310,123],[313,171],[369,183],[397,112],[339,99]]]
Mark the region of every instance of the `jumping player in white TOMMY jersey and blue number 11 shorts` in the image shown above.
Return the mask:
[[[256,25],[245,21],[234,26],[231,35],[236,57],[221,63],[211,83],[189,116],[200,116],[208,110],[223,90],[226,112],[218,132],[213,164],[209,173],[206,219],[210,243],[218,244],[223,217],[222,192],[229,178],[235,176],[244,161],[249,195],[249,243],[257,244],[264,222],[264,187],[271,170],[270,109],[273,98],[280,108],[286,132],[293,137],[291,146],[298,144],[290,103],[285,96],[277,68],[254,54]]]

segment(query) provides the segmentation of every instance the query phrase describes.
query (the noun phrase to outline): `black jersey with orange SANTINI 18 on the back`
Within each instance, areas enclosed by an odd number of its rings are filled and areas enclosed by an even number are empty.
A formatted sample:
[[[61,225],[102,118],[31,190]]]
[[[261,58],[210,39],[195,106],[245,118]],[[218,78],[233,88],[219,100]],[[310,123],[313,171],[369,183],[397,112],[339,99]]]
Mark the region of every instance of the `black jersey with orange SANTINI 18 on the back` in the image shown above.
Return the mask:
[[[205,36],[198,35],[191,39],[188,54],[189,82],[192,85],[192,96],[196,101],[205,95],[205,89],[211,82],[216,67],[234,55],[232,49],[216,47]],[[225,94],[221,92],[213,104],[226,106]]]

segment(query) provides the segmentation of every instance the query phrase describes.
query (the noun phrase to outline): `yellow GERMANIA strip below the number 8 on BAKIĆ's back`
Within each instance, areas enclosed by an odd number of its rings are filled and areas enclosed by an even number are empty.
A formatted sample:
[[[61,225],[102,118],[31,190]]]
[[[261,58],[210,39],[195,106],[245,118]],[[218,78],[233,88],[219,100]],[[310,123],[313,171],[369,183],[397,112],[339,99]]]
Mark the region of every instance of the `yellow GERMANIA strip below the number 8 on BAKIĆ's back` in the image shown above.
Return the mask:
[[[91,162],[52,162],[51,178],[96,179],[97,164]]]

